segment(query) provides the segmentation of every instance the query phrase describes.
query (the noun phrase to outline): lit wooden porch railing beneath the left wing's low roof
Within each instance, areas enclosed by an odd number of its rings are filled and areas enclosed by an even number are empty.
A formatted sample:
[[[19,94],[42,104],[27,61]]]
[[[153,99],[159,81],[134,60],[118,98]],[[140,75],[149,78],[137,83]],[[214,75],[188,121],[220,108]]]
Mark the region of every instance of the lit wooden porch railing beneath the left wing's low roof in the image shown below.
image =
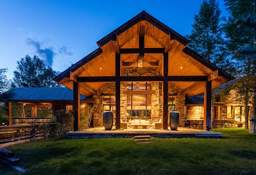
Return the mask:
[[[44,124],[51,122],[52,118],[42,118],[42,117],[18,117],[13,118],[13,125],[20,124]]]

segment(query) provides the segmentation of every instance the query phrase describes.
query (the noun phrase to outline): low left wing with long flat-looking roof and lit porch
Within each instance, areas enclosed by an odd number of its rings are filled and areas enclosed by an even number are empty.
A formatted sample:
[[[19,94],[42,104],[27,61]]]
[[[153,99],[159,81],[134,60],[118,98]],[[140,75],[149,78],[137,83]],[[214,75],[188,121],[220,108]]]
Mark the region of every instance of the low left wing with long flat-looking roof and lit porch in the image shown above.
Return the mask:
[[[93,102],[93,99],[86,98],[82,94],[80,100],[81,103]],[[42,123],[51,120],[58,110],[73,110],[73,91],[59,87],[13,88],[1,95],[0,101],[6,102],[9,108],[9,125]],[[21,106],[21,109],[17,109],[17,105]],[[48,110],[47,117],[38,117],[38,112],[42,110]],[[32,120],[32,118],[36,119]]]

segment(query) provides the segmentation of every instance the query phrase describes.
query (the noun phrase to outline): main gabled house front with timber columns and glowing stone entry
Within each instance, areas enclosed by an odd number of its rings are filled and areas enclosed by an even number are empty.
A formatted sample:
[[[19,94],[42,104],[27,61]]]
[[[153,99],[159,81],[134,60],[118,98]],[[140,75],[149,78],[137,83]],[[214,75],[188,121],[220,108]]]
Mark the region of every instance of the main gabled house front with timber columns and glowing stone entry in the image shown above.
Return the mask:
[[[204,93],[203,126],[211,126],[211,89],[234,78],[187,47],[189,40],[143,11],[97,42],[98,49],[54,80],[73,89],[74,130],[80,93],[94,99],[94,126],[113,111],[116,129],[133,120],[162,123],[170,110],[185,126],[185,99]]]

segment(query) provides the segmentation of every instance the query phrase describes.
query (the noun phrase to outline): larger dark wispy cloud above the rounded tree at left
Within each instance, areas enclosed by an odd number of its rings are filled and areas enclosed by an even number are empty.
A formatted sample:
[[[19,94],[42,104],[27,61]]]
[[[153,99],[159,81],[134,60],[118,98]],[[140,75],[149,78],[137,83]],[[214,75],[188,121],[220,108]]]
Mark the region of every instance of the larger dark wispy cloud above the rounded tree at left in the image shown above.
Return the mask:
[[[43,49],[41,43],[39,41],[35,41],[32,38],[26,39],[26,43],[28,43],[28,45],[32,45],[32,47],[36,49],[36,53],[41,57],[41,59],[44,61],[46,65],[52,66],[53,57],[55,55],[52,47]]]

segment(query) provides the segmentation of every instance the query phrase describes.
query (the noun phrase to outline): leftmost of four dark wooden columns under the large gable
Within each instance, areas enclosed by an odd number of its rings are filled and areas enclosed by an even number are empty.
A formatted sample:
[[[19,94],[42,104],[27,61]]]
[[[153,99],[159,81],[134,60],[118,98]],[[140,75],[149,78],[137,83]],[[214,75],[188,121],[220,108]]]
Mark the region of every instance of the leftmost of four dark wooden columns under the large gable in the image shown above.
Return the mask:
[[[80,126],[80,90],[79,82],[73,82],[73,111],[74,111],[74,131],[79,130]]]

